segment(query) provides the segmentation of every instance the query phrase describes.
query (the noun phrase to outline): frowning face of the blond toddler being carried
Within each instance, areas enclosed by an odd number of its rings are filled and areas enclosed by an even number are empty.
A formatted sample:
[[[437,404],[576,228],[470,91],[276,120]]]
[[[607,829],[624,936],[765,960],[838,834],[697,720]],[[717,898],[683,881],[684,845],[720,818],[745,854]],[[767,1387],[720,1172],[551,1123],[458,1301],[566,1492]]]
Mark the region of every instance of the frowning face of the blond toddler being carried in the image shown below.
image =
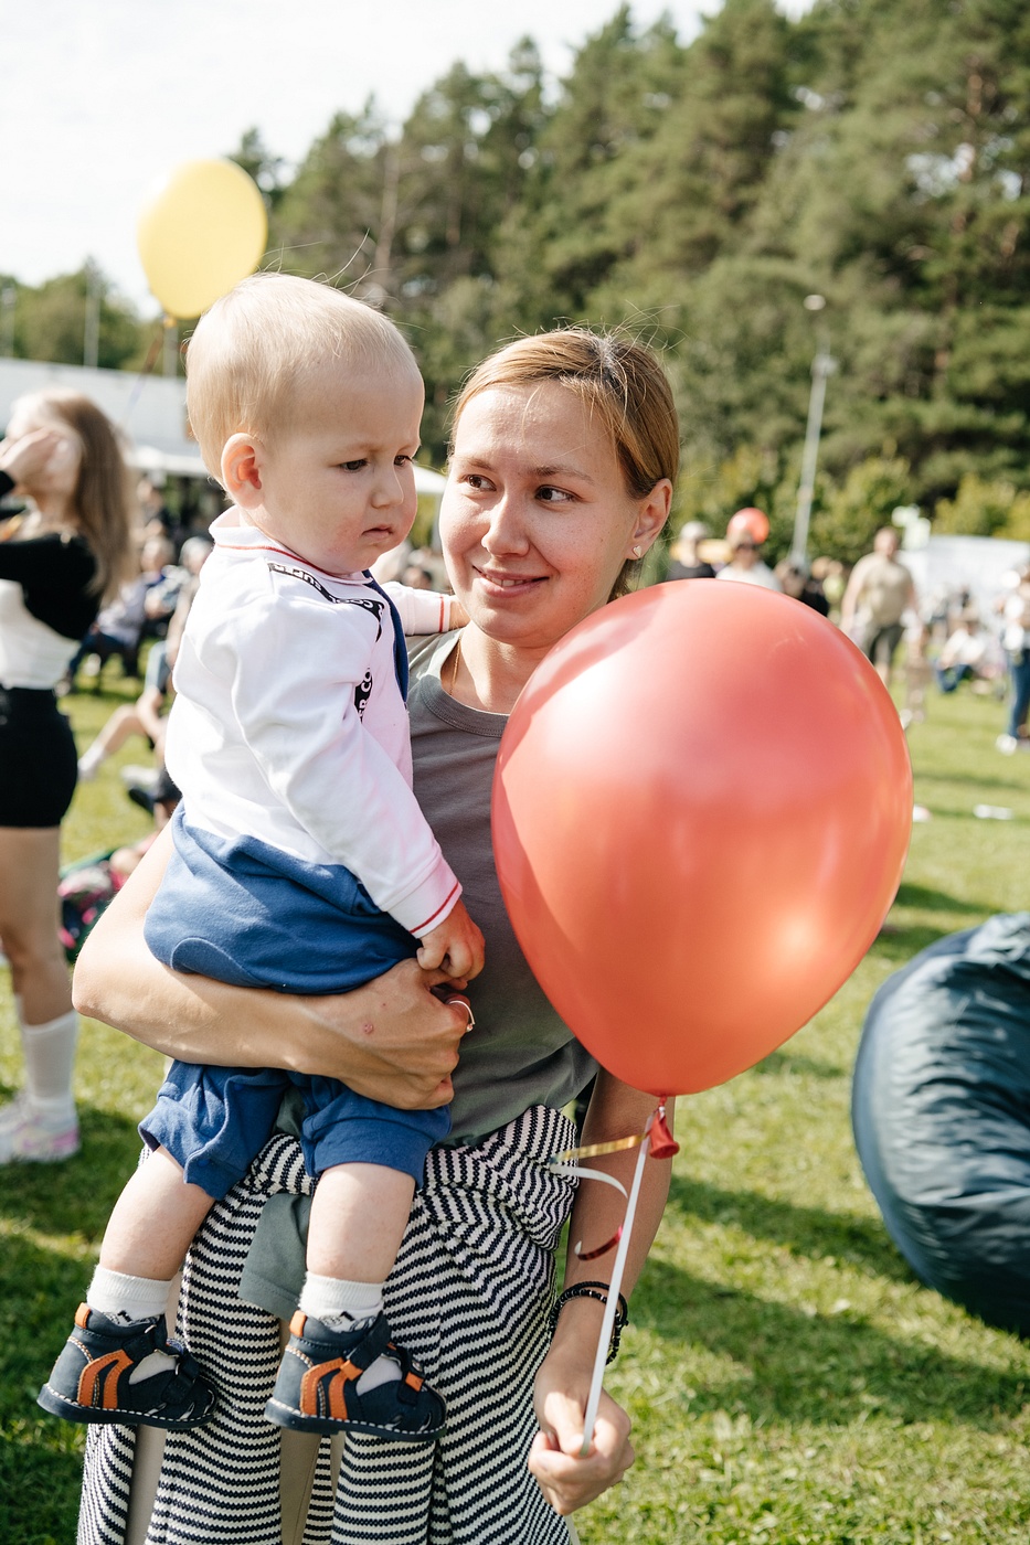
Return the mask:
[[[414,372],[326,366],[295,423],[261,448],[251,519],[333,575],[368,569],[411,530],[424,388]]]

